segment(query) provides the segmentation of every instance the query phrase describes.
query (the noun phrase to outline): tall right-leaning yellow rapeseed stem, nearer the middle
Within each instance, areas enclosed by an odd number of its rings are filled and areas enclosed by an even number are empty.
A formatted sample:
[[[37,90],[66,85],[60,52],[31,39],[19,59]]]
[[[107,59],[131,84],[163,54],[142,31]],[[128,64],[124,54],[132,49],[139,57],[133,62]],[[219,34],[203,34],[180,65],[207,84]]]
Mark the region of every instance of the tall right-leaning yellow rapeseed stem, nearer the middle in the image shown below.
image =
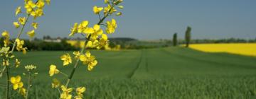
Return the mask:
[[[92,12],[96,14],[100,21],[98,23],[92,24],[90,21],[81,21],[80,23],[74,23],[72,28],[70,28],[70,37],[74,35],[82,35],[85,38],[84,43],[80,43],[81,50],[73,52],[73,55],[68,53],[63,54],[60,56],[60,60],[63,61],[63,66],[68,66],[70,64],[74,64],[74,68],[71,71],[70,75],[64,74],[55,64],[50,65],[49,75],[54,76],[54,74],[63,74],[64,76],[68,77],[68,81],[63,85],[57,78],[53,78],[52,88],[61,89],[60,98],[61,99],[82,99],[82,93],[85,92],[85,87],[78,87],[76,88],[76,95],[73,96],[73,88],[68,87],[71,78],[75,73],[75,69],[78,67],[79,62],[82,62],[85,66],[87,66],[88,71],[92,71],[92,69],[97,66],[98,62],[97,59],[90,50],[87,48],[97,48],[98,50],[102,49],[108,45],[108,35],[114,33],[117,28],[117,21],[112,18],[110,21],[107,20],[107,17],[116,15],[121,16],[122,12],[117,12],[117,9],[122,9],[124,6],[121,6],[123,1],[122,0],[105,0],[104,3],[106,4],[105,7],[103,6],[93,6]]]

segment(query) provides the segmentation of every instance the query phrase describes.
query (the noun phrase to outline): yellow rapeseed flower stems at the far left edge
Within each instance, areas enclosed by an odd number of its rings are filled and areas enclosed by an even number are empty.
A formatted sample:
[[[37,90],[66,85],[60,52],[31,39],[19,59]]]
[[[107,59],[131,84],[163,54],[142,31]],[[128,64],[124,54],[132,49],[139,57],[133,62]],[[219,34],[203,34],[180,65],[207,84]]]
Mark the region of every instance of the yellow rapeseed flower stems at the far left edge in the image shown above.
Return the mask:
[[[32,79],[38,74],[36,72],[36,66],[27,65],[24,66],[26,69],[26,73],[23,73],[23,76],[26,76],[28,79],[28,87],[24,88],[23,82],[21,81],[21,76],[11,76],[11,69],[13,67],[20,67],[21,62],[19,59],[14,59],[14,50],[18,52],[22,51],[23,54],[26,54],[27,47],[24,47],[24,40],[21,40],[21,34],[23,33],[25,25],[28,24],[28,19],[30,16],[33,16],[33,21],[31,23],[31,27],[33,30],[29,30],[27,32],[28,37],[32,38],[36,34],[35,31],[38,28],[38,23],[36,23],[36,18],[43,16],[43,8],[45,4],[50,4],[50,0],[24,0],[23,6],[18,6],[15,10],[15,16],[18,17],[14,24],[14,28],[20,29],[19,33],[17,33],[17,37],[14,40],[10,39],[10,35],[13,33],[9,33],[4,30],[1,33],[1,36],[4,37],[4,46],[0,48],[0,56],[2,60],[2,70],[0,72],[0,77],[6,72],[6,96],[5,98],[10,98],[9,94],[9,86],[12,86],[14,91],[18,91],[19,94],[23,95],[24,98],[28,98],[28,91],[31,87]],[[24,13],[23,13],[24,12]],[[25,15],[25,16],[24,16]],[[11,59],[14,59],[14,64],[9,63]],[[11,77],[10,77],[11,76]],[[11,83],[11,85],[10,85]]]

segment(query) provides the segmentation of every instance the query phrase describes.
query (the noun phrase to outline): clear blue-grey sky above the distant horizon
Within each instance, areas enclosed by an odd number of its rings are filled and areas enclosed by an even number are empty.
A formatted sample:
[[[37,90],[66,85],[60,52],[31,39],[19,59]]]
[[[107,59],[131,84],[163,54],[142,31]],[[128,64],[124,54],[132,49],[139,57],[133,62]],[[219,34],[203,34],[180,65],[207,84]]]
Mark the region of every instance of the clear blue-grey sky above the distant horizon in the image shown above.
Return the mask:
[[[37,19],[36,37],[68,37],[75,22],[88,20],[95,24],[98,17],[92,6],[103,4],[103,0],[51,1],[45,16]],[[22,4],[23,0],[1,0],[0,32],[18,32],[12,22],[17,20],[16,7]],[[187,25],[192,27],[193,38],[256,37],[255,0],[124,0],[122,5],[123,16],[114,17],[118,28],[111,37],[156,40],[170,39],[178,33],[183,38]]]

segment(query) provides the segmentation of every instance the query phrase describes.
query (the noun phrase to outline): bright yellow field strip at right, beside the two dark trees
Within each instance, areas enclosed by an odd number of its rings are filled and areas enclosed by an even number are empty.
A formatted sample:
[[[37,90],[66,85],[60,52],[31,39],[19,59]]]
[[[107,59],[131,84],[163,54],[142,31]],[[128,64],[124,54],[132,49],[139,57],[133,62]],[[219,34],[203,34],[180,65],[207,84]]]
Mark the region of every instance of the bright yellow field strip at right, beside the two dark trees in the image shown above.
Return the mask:
[[[189,46],[203,52],[227,52],[256,57],[256,43],[192,44]]]

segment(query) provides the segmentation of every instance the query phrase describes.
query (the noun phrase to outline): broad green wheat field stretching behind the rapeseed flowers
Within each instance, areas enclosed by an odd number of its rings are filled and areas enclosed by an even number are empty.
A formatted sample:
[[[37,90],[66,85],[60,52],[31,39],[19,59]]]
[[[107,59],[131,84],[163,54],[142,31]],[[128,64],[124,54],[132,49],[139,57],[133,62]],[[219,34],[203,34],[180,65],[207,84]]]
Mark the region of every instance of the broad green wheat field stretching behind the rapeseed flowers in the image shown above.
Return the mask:
[[[26,63],[21,66],[37,66],[38,76],[31,87],[30,97],[58,98],[58,90],[51,88],[51,81],[67,78],[61,74],[52,78],[48,70],[50,64],[55,63],[60,71],[70,74],[73,65],[63,67],[58,57],[63,52],[14,54],[20,57],[21,63]],[[256,57],[205,53],[183,47],[92,50],[92,54],[97,56],[99,64],[93,71],[87,71],[87,66],[80,64],[70,85],[86,86],[85,98],[256,98]],[[24,69],[12,70],[16,76]],[[3,76],[0,83],[5,83],[5,79]],[[3,98],[4,88],[0,89]],[[18,95],[11,98],[18,98]]]

